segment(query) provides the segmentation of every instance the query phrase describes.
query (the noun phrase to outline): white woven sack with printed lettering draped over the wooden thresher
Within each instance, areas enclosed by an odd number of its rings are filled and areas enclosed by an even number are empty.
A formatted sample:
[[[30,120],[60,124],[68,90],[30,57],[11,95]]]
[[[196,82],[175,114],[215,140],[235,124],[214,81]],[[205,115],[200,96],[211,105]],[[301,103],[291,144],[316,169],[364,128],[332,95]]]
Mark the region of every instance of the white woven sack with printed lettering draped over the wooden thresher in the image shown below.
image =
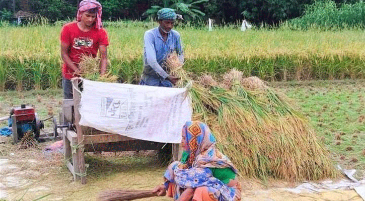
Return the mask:
[[[80,125],[140,140],[180,143],[191,120],[185,88],[106,83],[83,79]]]

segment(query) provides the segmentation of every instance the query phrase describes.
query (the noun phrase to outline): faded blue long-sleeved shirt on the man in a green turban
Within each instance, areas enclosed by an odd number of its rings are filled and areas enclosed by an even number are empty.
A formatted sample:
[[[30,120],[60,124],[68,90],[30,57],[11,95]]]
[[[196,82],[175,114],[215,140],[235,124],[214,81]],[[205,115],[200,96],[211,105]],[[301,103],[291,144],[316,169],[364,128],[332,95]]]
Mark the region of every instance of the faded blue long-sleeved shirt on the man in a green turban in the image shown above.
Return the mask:
[[[148,30],[144,33],[143,61],[144,69],[141,79],[148,82],[148,79],[166,79],[169,74],[162,67],[166,56],[176,51],[179,60],[184,62],[183,48],[179,32],[171,30],[167,34],[166,42],[161,36],[159,28]]]

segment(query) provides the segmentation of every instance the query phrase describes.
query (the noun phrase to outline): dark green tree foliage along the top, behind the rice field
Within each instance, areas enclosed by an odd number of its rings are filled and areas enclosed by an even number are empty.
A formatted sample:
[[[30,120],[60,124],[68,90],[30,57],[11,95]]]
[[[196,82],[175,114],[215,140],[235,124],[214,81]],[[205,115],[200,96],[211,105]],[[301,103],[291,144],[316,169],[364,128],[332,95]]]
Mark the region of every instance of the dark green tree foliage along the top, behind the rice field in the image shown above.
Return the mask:
[[[8,13],[22,10],[24,2],[30,4],[31,12],[48,18],[51,22],[74,19],[81,0],[0,0],[0,11]],[[103,6],[103,20],[144,20],[156,18],[162,8],[172,8],[183,15],[185,21],[212,18],[215,23],[237,23],[246,19],[259,25],[277,25],[285,20],[305,14],[306,7],[318,1],[329,0],[99,0]],[[336,7],[355,4],[360,0],[333,0]],[[143,15],[144,14],[144,15]]]

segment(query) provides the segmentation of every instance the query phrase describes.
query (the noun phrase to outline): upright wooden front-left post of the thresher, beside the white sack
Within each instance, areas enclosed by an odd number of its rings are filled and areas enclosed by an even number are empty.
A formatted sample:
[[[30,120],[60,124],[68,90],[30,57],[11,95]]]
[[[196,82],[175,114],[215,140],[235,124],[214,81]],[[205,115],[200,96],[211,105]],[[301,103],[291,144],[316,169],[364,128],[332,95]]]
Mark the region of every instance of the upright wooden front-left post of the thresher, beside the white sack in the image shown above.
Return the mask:
[[[72,82],[72,89],[74,93],[74,113],[75,113],[75,127],[76,127],[76,133],[78,136],[78,148],[76,149],[76,154],[78,155],[78,164],[74,164],[74,166],[79,167],[79,173],[81,174],[81,183],[86,183],[86,173],[85,171],[85,159],[84,159],[84,136],[83,136],[83,130],[81,129],[81,126],[79,125],[81,115],[79,111],[80,107],[80,101],[81,101],[81,94],[79,93],[79,79],[71,79]]]

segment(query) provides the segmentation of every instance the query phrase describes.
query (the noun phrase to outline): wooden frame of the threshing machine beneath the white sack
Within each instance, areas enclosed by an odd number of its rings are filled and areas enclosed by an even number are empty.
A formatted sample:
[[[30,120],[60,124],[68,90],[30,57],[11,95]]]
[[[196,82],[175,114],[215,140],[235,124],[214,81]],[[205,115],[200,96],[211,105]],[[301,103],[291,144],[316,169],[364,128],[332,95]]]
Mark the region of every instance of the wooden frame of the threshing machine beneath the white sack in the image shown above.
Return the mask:
[[[60,124],[73,124],[74,129],[62,128],[63,150],[66,166],[74,176],[74,180],[81,179],[86,183],[86,167],[84,152],[100,151],[133,151],[133,150],[156,150],[162,148],[163,143],[137,140],[115,133],[106,133],[91,127],[80,126],[80,87],[81,79],[71,79],[74,98],[63,99]],[[179,144],[173,144],[173,158],[179,156]],[[181,149],[180,149],[181,152]],[[180,153],[181,155],[181,153]]]

